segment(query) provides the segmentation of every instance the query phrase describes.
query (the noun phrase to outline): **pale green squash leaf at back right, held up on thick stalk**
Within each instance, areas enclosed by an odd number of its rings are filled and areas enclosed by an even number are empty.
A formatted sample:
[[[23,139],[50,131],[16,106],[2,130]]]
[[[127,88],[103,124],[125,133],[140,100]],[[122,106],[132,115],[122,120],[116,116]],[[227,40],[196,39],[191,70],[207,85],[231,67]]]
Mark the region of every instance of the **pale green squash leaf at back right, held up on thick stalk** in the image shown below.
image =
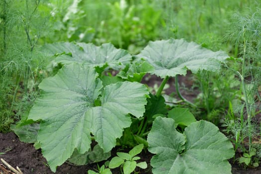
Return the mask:
[[[203,69],[214,71],[219,67],[219,61],[229,56],[222,51],[202,48],[194,42],[170,39],[149,42],[137,57],[146,59],[154,66],[153,74],[165,78],[185,75],[187,69],[193,73]]]

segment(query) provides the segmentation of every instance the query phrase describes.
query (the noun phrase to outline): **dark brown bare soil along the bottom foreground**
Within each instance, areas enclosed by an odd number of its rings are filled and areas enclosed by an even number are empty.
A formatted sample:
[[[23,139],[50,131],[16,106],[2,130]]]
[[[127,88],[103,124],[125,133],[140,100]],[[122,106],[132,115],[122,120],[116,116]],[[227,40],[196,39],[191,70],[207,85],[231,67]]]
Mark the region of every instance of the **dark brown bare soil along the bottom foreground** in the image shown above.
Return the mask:
[[[0,158],[4,159],[12,167],[18,166],[23,174],[54,174],[48,167],[45,158],[41,154],[41,150],[35,150],[32,144],[20,142],[18,137],[10,132],[7,134],[0,133],[0,152],[5,152],[0,155]],[[112,154],[118,149],[114,148]],[[140,170],[140,174],[152,174],[150,159],[152,154],[149,152],[142,152],[140,155],[142,161],[146,161],[148,168],[146,170]],[[0,163],[2,164],[2,163]],[[101,163],[102,164],[102,163]],[[57,168],[56,174],[87,174],[88,170],[97,169],[97,164],[89,164],[86,166],[73,166],[68,163],[63,164]],[[6,168],[6,170],[10,171]],[[4,173],[3,166],[0,166],[0,172]],[[113,174],[120,174],[120,171],[112,171]],[[246,170],[242,167],[232,164],[232,174],[260,174],[261,167]]]

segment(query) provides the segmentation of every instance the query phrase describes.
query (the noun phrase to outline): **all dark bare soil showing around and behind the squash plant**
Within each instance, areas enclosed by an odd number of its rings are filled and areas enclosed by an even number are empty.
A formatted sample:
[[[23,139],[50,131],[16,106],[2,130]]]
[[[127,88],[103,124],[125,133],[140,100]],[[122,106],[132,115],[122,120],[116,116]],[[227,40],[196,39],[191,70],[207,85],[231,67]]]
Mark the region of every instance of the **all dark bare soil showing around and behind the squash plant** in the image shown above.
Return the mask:
[[[143,82],[148,84],[149,86],[150,83],[153,83],[153,85],[155,83],[160,85],[162,81],[157,77],[148,78],[149,80],[147,82],[145,79],[146,78],[144,78]],[[179,83],[186,84],[186,87],[192,86],[191,80],[189,79],[189,75],[187,77],[180,77]],[[170,79],[169,84],[170,87],[166,90],[166,93],[171,93],[174,91],[174,79]],[[193,92],[185,92],[181,89],[180,91],[183,94],[183,96],[190,101],[192,101],[192,99],[195,98],[197,95],[196,90],[194,90]],[[122,152],[122,150],[118,149],[117,147],[112,149],[112,157],[115,156],[116,152],[119,151]],[[141,157],[141,161],[147,162],[148,168],[145,170],[136,168],[136,173],[152,174],[150,160],[153,154],[149,153],[148,151],[143,151],[138,156]],[[7,134],[0,133],[0,159],[5,160],[13,168],[16,168],[16,166],[19,167],[23,174],[54,174],[49,169],[46,159],[41,154],[41,150],[35,150],[33,144],[20,142],[18,137],[13,132],[9,132]],[[230,162],[232,165],[232,174],[261,174],[261,167],[255,169],[244,169],[242,166],[239,166],[238,164],[233,164],[232,160],[230,160]],[[97,165],[101,166],[103,164],[104,162],[100,162],[98,164],[89,164],[86,166],[73,166],[71,164],[65,163],[57,168],[56,174],[87,174],[88,170],[95,171],[97,169]],[[113,174],[121,174],[119,169],[111,171]],[[7,168],[5,165],[3,165],[3,163],[0,161],[0,174],[15,173],[11,172],[11,170]]]

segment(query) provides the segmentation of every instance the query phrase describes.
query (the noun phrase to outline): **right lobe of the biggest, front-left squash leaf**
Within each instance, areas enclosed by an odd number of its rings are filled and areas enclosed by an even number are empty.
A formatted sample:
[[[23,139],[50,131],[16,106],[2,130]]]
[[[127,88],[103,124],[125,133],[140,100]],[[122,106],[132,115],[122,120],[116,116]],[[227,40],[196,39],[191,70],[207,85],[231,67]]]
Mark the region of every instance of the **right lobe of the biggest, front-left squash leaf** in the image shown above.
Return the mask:
[[[105,153],[116,145],[116,138],[122,136],[123,129],[131,125],[127,114],[143,116],[148,95],[148,89],[142,84],[118,82],[104,88],[101,106],[87,110],[90,130]]]

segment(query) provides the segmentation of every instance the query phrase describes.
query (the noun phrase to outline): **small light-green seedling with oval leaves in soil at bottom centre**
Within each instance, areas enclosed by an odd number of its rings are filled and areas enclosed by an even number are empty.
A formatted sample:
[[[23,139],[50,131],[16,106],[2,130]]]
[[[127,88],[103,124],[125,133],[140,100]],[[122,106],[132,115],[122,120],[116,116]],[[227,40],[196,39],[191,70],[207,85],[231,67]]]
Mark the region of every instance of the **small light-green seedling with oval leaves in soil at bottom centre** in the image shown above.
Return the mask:
[[[140,144],[135,146],[129,153],[117,152],[117,157],[113,157],[109,163],[109,168],[114,169],[121,167],[123,169],[123,174],[131,174],[136,167],[141,169],[147,168],[146,162],[137,163],[140,157],[136,157],[137,154],[141,153],[144,145]]]

